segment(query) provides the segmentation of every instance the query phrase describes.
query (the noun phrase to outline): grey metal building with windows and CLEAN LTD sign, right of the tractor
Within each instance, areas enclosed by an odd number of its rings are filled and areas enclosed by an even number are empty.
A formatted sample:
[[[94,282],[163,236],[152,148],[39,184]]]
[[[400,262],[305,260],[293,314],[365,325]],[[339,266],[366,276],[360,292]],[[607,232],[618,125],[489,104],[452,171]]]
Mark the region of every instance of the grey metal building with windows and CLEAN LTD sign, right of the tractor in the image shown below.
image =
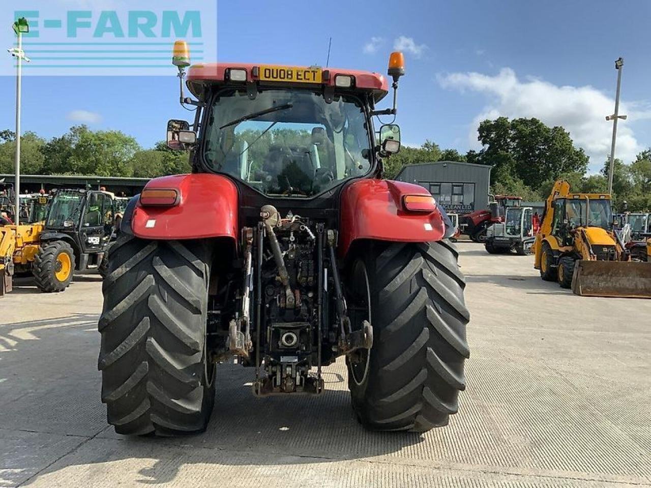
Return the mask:
[[[437,161],[402,167],[396,180],[428,189],[450,213],[469,213],[488,208],[492,167],[458,161]]]

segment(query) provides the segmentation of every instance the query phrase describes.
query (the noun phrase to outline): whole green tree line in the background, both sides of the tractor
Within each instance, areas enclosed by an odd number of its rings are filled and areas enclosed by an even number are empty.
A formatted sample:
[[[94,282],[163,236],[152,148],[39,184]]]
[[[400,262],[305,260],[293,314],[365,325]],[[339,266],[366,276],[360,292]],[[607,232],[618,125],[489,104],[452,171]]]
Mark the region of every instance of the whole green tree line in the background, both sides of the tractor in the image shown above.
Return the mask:
[[[598,174],[587,174],[589,157],[576,148],[570,133],[548,127],[536,118],[499,117],[479,124],[482,148],[460,154],[426,141],[419,148],[402,147],[384,161],[387,178],[404,165],[434,161],[465,161],[490,165],[492,192],[544,200],[555,180],[568,180],[573,191],[603,193],[607,190],[608,163]],[[264,146],[264,144],[262,144]],[[261,147],[262,147],[261,146]],[[0,173],[14,172],[16,135],[0,131]],[[93,131],[74,126],[61,137],[46,140],[36,133],[21,137],[23,174],[81,174],[154,178],[190,171],[187,154],[173,152],[164,141],[146,149],[120,131]],[[615,160],[613,200],[630,211],[651,210],[651,148],[625,164]]]

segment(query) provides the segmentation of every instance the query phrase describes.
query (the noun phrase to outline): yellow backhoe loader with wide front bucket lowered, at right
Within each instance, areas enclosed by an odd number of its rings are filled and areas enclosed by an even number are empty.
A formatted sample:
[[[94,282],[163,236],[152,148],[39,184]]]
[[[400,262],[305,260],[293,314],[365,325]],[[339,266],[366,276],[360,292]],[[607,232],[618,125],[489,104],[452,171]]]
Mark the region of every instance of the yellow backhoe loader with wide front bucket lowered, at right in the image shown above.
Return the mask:
[[[540,277],[577,295],[651,298],[651,263],[631,262],[613,231],[611,196],[554,183],[534,243]]]

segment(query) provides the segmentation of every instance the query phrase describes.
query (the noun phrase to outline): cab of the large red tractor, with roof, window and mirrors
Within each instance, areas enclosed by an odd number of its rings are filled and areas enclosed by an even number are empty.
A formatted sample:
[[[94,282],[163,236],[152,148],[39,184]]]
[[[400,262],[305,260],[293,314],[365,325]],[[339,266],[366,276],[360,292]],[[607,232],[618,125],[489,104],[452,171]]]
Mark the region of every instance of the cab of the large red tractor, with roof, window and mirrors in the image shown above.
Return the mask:
[[[397,88],[402,55],[395,59]],[[380,74],[202,64],[189,68],[187,87],[197,97],[199,130],[171,120],[168,145],[192,148],[195,171],[227,176],[257,209],[270,200],[283,211],[331,208],[344,183],[378,176],[381,158],[400,148],[397,125],[373,129],[374,115],[395,111],[375,111],[388,92]]]

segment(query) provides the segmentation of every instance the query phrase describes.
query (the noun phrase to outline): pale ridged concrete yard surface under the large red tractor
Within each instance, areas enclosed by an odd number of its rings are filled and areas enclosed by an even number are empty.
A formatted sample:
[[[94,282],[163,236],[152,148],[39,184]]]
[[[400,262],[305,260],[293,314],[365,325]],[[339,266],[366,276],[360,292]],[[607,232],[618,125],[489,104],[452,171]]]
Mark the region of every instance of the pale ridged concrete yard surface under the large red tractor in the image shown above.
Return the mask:
[[[532,256],[458,243],[471,358],[450,425],[370,433],[343,361],[322,396],[256,399],[223,364],[208,431],[126,438],[106,424],[101,281],[0,299],[0,487],[651,486],[651,300],[578,297]]]

